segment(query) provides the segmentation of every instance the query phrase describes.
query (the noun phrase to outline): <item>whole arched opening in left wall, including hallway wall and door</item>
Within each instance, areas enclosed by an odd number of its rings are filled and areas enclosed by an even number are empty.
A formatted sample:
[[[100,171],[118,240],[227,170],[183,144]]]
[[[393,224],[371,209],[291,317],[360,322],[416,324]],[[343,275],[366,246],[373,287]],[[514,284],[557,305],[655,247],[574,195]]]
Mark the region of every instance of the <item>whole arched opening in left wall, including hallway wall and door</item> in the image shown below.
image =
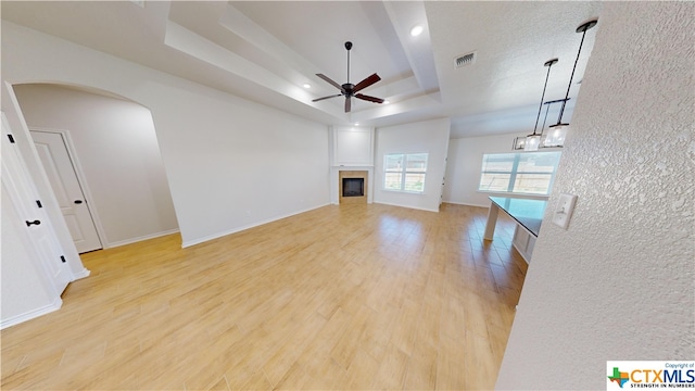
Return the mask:
[[[78,252],[178,231],[149,109],[92,88],[13,89]]]

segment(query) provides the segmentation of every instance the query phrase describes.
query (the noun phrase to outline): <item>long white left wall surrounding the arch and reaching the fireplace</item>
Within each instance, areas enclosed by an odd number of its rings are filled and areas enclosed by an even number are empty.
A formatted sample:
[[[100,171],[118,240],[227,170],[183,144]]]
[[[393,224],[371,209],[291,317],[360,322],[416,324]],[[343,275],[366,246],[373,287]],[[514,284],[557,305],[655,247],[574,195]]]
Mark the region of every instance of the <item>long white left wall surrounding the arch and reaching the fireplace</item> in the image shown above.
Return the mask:
[[[150,109],[185,245],[329,203],[321,124],[7,21],[2,50],[5,83],[93,87]]]

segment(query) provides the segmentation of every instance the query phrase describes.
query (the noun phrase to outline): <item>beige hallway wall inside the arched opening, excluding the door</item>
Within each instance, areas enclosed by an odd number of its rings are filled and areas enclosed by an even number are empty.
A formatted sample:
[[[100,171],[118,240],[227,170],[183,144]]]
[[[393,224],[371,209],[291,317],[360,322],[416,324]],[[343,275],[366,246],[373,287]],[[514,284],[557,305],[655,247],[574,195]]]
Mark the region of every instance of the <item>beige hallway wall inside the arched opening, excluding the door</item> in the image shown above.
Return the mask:
[[[29,128],[70,134],[105,248],[178,230],[148,109],[56,85],[14,90]]]

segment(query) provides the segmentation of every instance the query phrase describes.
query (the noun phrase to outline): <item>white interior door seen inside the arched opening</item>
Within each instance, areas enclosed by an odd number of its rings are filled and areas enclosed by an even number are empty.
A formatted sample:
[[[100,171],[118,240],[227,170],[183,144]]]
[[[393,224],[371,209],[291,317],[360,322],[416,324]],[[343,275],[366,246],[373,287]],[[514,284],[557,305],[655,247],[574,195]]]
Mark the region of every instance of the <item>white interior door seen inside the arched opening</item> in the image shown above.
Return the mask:
[[[84,253],[101,249],[97,227],[87,202],[85,202],[85,194],[77,179],[77,174],[75,174],[63,136],[58,133],[31,130],[31,138],[77,252]]]

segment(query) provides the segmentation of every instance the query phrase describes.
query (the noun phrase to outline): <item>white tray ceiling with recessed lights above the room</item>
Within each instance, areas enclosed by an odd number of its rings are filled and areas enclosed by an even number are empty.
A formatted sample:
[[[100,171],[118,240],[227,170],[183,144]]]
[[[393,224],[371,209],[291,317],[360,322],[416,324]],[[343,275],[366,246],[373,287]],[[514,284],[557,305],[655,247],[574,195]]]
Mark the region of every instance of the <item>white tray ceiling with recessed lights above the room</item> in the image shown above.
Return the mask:
[[[559,59],[545,100],[564,98],[581,40],[574,30],[601,9],[601,2],[530,1],[3,0],[2,18],[321,123],[388,126],[448,116],[458,138],[533,130],[543,63]],[[419,37],[409,36],[415,24],[426,27]],[[586,34],[570,98],[595,35]],[[361,92],[390,104],[353,99],[345,114],[342,98],[312,102],[339,93],[315,74],[346,81],[348,40],[350,81],[378,73],[381,81]],[[476,62],[455,70],[454,58],[471,51]],[[558,110],[552,105],[548,122]]]

